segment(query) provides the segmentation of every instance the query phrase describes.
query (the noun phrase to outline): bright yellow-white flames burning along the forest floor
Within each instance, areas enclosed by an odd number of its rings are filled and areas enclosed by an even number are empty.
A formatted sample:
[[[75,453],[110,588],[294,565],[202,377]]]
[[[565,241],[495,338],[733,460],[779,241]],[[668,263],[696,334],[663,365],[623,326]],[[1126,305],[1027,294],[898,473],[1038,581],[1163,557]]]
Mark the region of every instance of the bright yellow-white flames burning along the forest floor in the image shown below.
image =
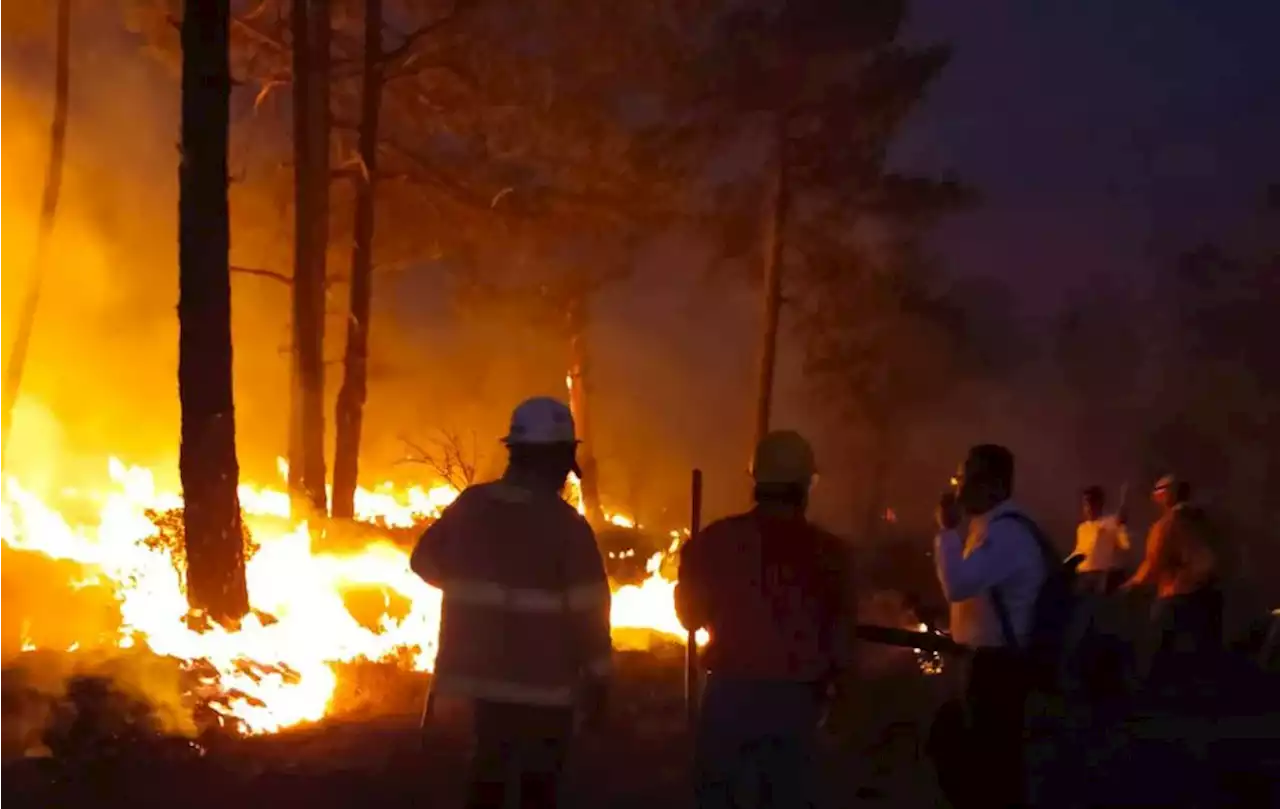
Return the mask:
[[[73,563],[77,576],[69,588],[104,588],[118,604],[113,626],[97,636],[77,637],[68,652],[145,646],[177,658],[198,672],[210,695],[219,696],[211,703],[215,710],[248,733],[323,718],[338,686],[337,663],[393,661],[415,671],[431,669],[440,593],[408,570],[408,552],[375,526],[408,529],[430,520],[457,497],[453,488],[360,489],[356,512],[369,525],[369,541],[358,550],[328,552],[314,548],[306,524],[289,518],[283,490],[242,485],[246,526],[257,545],[247,562],[253,612],[237,631],[196,631],[186,622],[188,605],[174,547],[157,541],[163,515],[182,507],[180,495],[159,490],[148,470],[116,460],[110,461],[109,475],[102,492],[49,498],[13,477],[4,481],[0,544]],[[609,520],[630,524],[621,516]],[[672,549],[678,541],[680,534],[673,534]],[[650,559],[650,575],[641,585],[614,593],[616,636],[617,630],[632,629],[684,637],[672,603],[675,584],[660,573],[663,557]],[[348,608],[344,595],[357,591],[381,594],[384,609],[374,626]],[[40,646],[24,636],[24,649]]]

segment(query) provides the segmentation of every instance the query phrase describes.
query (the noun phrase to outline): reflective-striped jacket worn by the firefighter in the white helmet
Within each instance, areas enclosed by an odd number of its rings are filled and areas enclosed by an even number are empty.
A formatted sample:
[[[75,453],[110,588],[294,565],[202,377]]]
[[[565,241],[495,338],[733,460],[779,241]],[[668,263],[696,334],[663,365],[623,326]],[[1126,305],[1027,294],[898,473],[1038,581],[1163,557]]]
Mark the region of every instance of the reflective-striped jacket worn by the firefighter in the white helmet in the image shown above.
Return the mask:
[[[472,486],[422,534],[411,566],[443,594],[433,691],[571,705],[584,678],[608,676],[604,563],[558,497]]]

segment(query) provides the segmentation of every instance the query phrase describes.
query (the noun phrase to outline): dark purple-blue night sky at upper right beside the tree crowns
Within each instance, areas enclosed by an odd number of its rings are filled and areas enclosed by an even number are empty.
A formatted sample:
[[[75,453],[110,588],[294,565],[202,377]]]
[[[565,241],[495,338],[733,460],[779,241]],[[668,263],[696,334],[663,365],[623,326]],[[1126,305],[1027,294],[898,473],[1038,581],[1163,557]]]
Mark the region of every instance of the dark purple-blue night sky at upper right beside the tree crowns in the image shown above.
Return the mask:
[[[947,266],[1038,308],[1235,227],[1280,179],[1277,31],[1275,0],[916,0],[955,58],[899,159],[983,195]]]

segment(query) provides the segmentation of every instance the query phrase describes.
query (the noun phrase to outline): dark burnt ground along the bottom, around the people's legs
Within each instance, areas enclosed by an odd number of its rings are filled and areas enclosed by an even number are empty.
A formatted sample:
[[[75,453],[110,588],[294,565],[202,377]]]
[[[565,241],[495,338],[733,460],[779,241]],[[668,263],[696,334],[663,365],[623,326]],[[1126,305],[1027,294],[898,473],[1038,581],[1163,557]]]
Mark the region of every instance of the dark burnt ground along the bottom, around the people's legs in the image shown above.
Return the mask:
[[[659,649],[618,657],[608,727],[577,740],[566,806],[691,806],[682,654]],[[909,653],[867,673],[831,723],[819,806],[943,806],[922,748],[954,682],[946,673],[922,675]],[[463,751],[443,744],[424,749],[419,731],[425,678],[370,667],[344,675],[343,682],[340,718],[274,736],[211,736],[198,745],[148,730],[146,707],[136,700],[114,699],[96,686],[73,689],[78,710],[55,710],[45,723],[42,740],[51,754],[0,764],[0,806],[458,805]],[[1180,700],[1194,709],[1111,730],[1071,731],[1079,739],[1074,751],[1047,751],[1060,781],[1053,790],[1059,800],[1046,805],[1280,805],[1258,792],[1280,783],[1280,687],[1254,687],[1234,709],[1220,700],[1201,708]],[[1260,701],[1260,693],[1268,699]],[[0,687],[0,731],[20,710],[31,714],[32,707],[23,708]],[[1055,736],[1065,737],[1061,731]],[[1192,791],[1224,765],[1235,771],[1234,800]],[[1084,787],[1089,797],[1065,787]]]

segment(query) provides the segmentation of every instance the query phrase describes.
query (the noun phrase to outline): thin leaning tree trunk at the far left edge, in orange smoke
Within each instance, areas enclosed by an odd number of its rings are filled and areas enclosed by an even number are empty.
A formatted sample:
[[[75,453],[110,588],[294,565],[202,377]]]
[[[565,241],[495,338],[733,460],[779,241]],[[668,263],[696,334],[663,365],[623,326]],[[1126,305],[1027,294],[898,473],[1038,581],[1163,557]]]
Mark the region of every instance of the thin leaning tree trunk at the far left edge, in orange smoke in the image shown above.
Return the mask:
[[[63,188],[63,157],[67,154],[67,109],[70,104],[72,84],[72,1],[58,0],[58,33],[55,40],[54,123],[49,132],[49,165],[45,169],[45,195],[40,204],[40,230],[36,233],[36,255],[27,276],[27,289],[18,311],[18,333],[9,349],[4,387],[0,388],[0,470],[5,467],[9,452],[9,433],[13,429],[13,410],[22,389],[22,372],[27,366],[31,333],[36,326],[40,308],[40,291],[45,283],[49,264],[49,244],[58,220],[58,197]]]

